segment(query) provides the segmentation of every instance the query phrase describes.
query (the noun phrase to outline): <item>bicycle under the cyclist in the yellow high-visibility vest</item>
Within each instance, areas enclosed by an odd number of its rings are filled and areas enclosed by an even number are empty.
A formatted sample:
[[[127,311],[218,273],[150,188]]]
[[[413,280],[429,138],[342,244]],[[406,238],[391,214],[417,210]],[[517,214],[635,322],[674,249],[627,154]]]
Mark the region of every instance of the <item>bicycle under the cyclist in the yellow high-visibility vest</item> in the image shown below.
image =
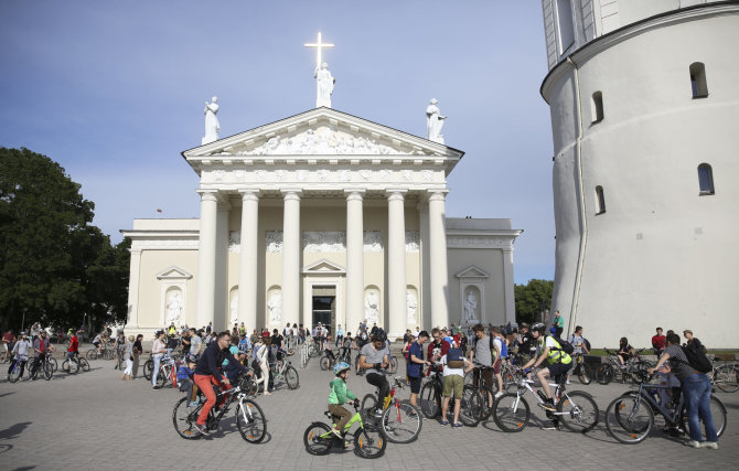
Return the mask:
[[[558,419],[571,431],[586,433],[598,425],[600,410],[591,395],[583,390],[567,392],[565,383],[567,375],[561,374],[554,378],[549,386],[555,387],[554,403],[556,411],[547,410],[547,417]],[[540,390],[534,392],[535,381],[523,376],[515,393],[506,393],[499,397],[493,405],[493,419],[503,431],[517,432],[526,428],[531,418],[528,402],[524,398],[526,390],[536,398],[537,405],[544,408],[546,396]]]

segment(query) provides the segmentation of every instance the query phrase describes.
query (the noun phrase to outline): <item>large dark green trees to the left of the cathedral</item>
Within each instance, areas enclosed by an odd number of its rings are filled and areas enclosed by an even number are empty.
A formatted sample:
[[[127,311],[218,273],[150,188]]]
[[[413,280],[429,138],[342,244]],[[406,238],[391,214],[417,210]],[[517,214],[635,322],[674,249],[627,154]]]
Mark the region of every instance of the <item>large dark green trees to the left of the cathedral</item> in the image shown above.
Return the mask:
[[[19,328],[125,320],[128,243],[92,225],[95,205],[65,170],[0,148],[0,323]]]

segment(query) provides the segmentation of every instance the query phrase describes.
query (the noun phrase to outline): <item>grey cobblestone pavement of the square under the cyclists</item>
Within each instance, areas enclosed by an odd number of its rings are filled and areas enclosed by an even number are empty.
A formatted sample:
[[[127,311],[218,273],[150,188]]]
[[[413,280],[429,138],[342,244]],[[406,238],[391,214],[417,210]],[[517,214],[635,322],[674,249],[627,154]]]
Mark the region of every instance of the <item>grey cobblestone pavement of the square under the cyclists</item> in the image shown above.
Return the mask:
[[[297,358],[296,358],[297,361]],[[425,420],[419,439],[410,445],[388,443],[385,456],[363,460],[353,452],[312,457],[302,433],[322,420],[330,372],[311,360],[299,368],[300,388],[280,387],[259,397],[268,419],[264,443],[244,441],[233,416],[213,436],[185,441],[172,427],[172,407],[181,396],[172,388],[153,390],[139,378],[120,381],[110,361],[92,362],[89,373],[57,372],[50,382],[10,384],[0,381],[0,469],[122,469],[171,465],[178,469],[250,465],[286,469],[731,469],[739,458],[739,393],[718,392],[728,411],[727,431],[719,450],[689,449],[684,440],[654,432],[640,445],[621,445],[602,424],[588,435],[540,429],[544,414],[532,408],[532,420],[520,433],[504,433],[491,420],[475,428],[451,429]],[[349,387],[360,397],[371,393],[364,377],[352,375]],[[596,383],[570,389],[591,393],[601,409],[628,385]],[[407,398],[406,392],[400,397]],[[532,402],[529,402],[532,404]],[[661,429],[662,420],[656,427]]]

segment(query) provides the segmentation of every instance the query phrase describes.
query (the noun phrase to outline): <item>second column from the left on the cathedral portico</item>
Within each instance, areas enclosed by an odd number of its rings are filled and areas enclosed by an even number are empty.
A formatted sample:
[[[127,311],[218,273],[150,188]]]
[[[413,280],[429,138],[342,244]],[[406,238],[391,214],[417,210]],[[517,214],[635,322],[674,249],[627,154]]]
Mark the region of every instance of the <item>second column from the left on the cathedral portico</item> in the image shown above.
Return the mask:
[[[242,190],[242,251],[238,267],[238,320],[247,332],[257,328],[257,232],[259,192]]]

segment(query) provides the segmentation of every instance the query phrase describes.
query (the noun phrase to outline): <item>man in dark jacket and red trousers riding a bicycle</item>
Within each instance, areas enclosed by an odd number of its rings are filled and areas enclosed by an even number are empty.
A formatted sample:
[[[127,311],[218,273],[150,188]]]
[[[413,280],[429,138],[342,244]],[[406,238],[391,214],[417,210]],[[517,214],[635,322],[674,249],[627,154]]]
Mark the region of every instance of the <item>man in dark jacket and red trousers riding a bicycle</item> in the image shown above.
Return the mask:
[[[234,355],[228,351],[229,346],[231,334],[227,331],[221,332],[216,340],[207,345],[203,356],[201,356],[195,366],[195,384],[207,399],[203,405],[203,408],[197,416],[197,422],[195,424],[195,428],[202,435],[208,435],[205,419],[213,406],[215,406],[215,392],[213,390],[213,385],[223,385],[225,389],[231,389],[232,387],[231,381],[223,375],[218,365],[223,364],[224,360],[228,360],[228,364],[236,366],[236,370],[239,373],[249,372],[242,366],[238,360],[234,358]],[[225,396],[223,400],[225,400]]]

